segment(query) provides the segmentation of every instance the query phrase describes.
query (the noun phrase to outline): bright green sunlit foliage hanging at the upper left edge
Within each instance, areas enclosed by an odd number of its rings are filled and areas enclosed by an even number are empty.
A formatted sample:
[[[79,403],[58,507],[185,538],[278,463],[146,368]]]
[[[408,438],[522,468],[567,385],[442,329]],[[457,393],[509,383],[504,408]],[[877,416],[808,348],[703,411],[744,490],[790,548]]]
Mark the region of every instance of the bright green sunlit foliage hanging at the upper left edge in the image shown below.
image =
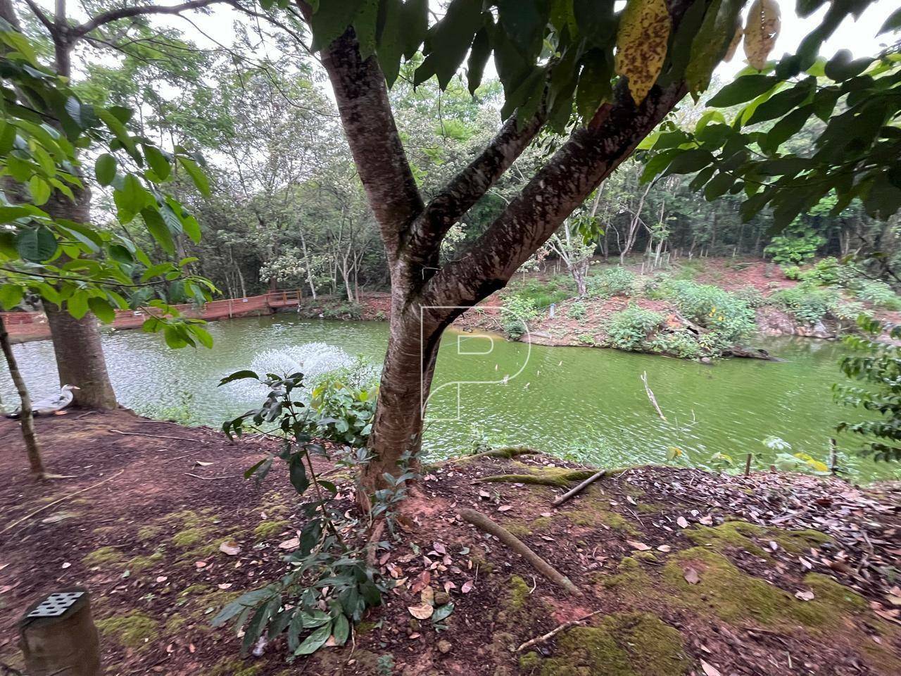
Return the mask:
[[[162,331],[171,347],[212,344],[202,322],[181,317],[164,290],[177,281],[188,297],[209,299],[213,285],[187,270],[196,259],[154,262],[127,236],[59,217],[73,212],[86,190],[79,152],[103,150],[94,173],[113,190],[119,224],[142,222],[174,254],[175,238],[186,234],[197,242],[200,226],[161,187],[180,167],[208,195],[196,158],[133,135],[128,108],[83,103],[68,79],[41,66],[31,42],[8,25],[0,25],[0,50],[0,177],[13,197],[0,197],[0,305],[9,310],[34,294],[77,318],[90,311],[111,322],[115,310],[144,304],[147,294],[137,290],[153,288],[157,297],[146,305],[155,311],[145,331]]]

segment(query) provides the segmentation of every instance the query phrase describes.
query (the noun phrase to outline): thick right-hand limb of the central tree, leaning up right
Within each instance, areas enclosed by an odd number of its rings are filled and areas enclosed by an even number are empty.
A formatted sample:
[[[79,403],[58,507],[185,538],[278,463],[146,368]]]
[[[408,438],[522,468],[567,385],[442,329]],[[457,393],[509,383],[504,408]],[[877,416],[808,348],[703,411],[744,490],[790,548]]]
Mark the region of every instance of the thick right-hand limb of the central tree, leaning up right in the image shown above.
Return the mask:
[[[615,103],[603,105],[592,123],[572,132],[463,258],[432,278],[425,300],[468,306],[503,288],[685,94],[682,83],[655,87],[636,109],[621,82]]]

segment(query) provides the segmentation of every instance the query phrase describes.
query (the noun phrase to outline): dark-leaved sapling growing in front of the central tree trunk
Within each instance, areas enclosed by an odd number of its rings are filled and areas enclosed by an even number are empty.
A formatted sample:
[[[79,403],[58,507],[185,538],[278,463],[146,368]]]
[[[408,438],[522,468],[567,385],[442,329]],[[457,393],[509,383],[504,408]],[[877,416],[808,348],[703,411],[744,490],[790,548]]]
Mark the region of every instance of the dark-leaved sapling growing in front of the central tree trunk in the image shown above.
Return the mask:
[[[337,487],[317,474],[313,457],[322,456],[339,467],[358,470],[369,462],[369,452],[364,447],[345,446],[343,452],[330,457],[325,446],[314,441],[309,431],[316,425],[317,414],[303,401],[315,397],[305,396],[302,374],[260,378],[253,371],[241,370],[220,384],[240,379],[256,380],[268,388],[268,395],[259,408],[224,423],[223,431],[230,437],[256,430],[281,438],[280,450],[250,467],[244,476],[262,480],[274,461],[284,461],[292,486],[305,498],[305,524],[296,552],[286,558],[290,570],[279,580],[223,607],[213,625],[232,621],[236,627],[243,627],[242,653],[264,634],[271,639],[287,633],[287,649],[293,655],[314,653],[330,637],[334,644],[342,645],[350,637],[351,623],[359,622],[368,608],[379,606],[382,594],[394,584],[369,564],[372,547],[389,544],[369,544],[369,539],[376,519],[381,517],[394,532],[397,504],[405,498],[406,482],[415,477],[407,470],[412,458],[409,453],[402,457],[400,476],[386,475],[388,487],[372,496],[369,514],[351,516],[336,500]]]

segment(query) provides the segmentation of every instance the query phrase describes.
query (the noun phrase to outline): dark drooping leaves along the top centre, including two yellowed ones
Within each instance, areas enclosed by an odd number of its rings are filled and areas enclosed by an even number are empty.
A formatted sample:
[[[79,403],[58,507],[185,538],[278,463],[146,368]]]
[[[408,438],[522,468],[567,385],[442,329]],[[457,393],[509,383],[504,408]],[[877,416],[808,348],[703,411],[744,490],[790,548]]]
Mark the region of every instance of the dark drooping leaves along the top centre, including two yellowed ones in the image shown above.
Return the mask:
[[[287,0],[264,0],[264,7]],[[799,14],[823,1],[800,0]],[[869,0],[833,3],[832,23]],[[736,36],[745,35],[753,59],[766,60],[778,26],[778,5],[755,2],[740,25],[744,0],[696,0],[673,25],[666,0],[451,0],[430,23],[428,0],[310,0],[313,48],[322,50],[352,26],[363,59],[375,54],[388,85],[402,59],[422,50],[414,85],[436,77],[441,88],[465,66],[469,91],[481,84],[493,55],[504,87],[506,118],[519,110],[529,119],[546,102],[548,121],[563,131],[573,113],[585,123],[613,94],[617,76],[627,81],[636,105],[651,87],[687,80],[693,95],[703,91]],[[775,17],[775,20],[774,20]],[[818,29],[819,30],[819,29]],[[828,32],[808,45],[814,50]]]

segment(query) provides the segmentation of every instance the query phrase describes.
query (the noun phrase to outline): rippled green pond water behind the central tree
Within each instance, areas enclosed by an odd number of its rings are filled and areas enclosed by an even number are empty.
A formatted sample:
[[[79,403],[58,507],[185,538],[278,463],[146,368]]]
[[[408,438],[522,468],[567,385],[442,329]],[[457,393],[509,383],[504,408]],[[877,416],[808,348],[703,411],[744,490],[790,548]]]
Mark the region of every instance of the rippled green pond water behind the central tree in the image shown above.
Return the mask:
[[[209,324],[212,350],[169,350],[159,336],[105,335],[104,350],[119,401],[142,413],[194,395],[196,423],[221,425],[250,408],[259,391],[223,376],[247,368],[264,350],[324,342],[379,362],[387,324],[299,320],[273,315]],[[747,452],[772,455],[762,440],[775,435],[819,460],[828,457],[836,423],[857,412],[833,403],[840,378],[837,343],[801,338],[758,340],[784,361],[723,360],[713,366],[660,356],[577,347],[508,343],[497,337],[447,333],[428,408],[425,447],[433,457],[465,452],[473,426],[493,443],[524,443],[601,465],[679,461],[705,464],[716,452],[741,462]],[[49,341],[17,345],[34,396],[50,394],[57,376]],[[660,420],[642,385],[647,372],[667,420]],[[506,379],[505,379],[506,377]],[[6,407],[16,403],[8,372],[0,372]],[[840,439],[850,445],[852,440]],[[844,457],[860,480],[893,478],[897,465]],[[769,463],[768,463],[769,464]]]

